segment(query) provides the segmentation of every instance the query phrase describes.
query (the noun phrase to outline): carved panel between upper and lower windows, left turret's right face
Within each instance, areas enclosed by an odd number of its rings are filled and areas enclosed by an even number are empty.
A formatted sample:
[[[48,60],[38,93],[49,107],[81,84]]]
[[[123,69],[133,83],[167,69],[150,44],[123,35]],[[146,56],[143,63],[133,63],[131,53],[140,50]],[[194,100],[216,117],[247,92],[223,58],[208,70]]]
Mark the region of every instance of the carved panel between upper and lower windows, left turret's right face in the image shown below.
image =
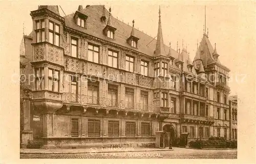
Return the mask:
[[[62,65],[63,63],[63,55],[62,50],[53,46],[48,46],[48,61],[52,63],[56,63]]]

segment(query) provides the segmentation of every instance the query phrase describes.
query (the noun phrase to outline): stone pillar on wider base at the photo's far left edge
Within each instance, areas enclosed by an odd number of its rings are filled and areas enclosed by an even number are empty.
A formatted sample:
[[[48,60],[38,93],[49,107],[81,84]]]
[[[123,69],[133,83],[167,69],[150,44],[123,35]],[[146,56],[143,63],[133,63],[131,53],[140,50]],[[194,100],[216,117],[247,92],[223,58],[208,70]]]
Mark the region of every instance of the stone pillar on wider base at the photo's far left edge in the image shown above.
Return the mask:
[[[22,115],[24,118],[23,119],[24,128],[23,130],[20,130],[20,140],[22,141],[20,145],[21,148],[26,148],[28,144],[28,140],[33,139],[33,131],[30,128],[30,121],[31,121],[30,102],[31,100],[29,98],[25,98],[22,103],[23,106],[20,106],[20,108],[23,108]]]

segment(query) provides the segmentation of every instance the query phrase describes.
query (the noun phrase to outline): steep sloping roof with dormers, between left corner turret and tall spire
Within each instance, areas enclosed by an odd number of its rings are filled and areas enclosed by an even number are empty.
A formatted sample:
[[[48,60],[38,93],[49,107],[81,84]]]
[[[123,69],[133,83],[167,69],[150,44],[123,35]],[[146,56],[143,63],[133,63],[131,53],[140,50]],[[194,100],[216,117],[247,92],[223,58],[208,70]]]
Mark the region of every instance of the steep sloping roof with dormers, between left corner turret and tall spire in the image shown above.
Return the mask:
[[[127,25],[126,23],[123,23],[122,21],[112,17],[112,23],[114,24],[115,28],[117,29],[115,31],[115,39],[110,39],[106,37],[103,33],[102,30],[105,28],[105,23],[100,21],[100,17],[102,16],[102,8],[103,5],[95,5],[95,6],[89,6],[87,8],[84,8],[82,11],[86,15],[88,15],[87,18],[87,28],[82,28],[74,22],[73,14],[69,14],[65,16],[65,21],[66,21],[66,26],[81,31],[83,33],[93,35],[95,37],[98,37],[103,40],[108,40],[110,42],[125,46],[127,48],[132,48],[135,49],[139,52],[142,52],[144,54],[147,54],[148,56],[153,57],[154,55],[154,50],[156,48],[157,40],[152,38],[151,36],[146,35],[145,33],[134,29],[134,32],[136,34],[136,37],[140,38],[138,41],[138,48],[133,48],[129,43],[127,43],[127,38],[130,37],[131,31],[132,31],[132,26]],[[109,12],[108,10],[105,9],[107,19],[109,17]],[[152,42],[151,42],[152,41]],[[150,44],[148,44],[150,43]],[[165,52],[168,51],[168,46],[163,45],[163,48]],[[178,58],[178,52],[175,51],[174,49],[172,50],[172,56],[174,58]],[[165,54],[166,55],[166,54]]]

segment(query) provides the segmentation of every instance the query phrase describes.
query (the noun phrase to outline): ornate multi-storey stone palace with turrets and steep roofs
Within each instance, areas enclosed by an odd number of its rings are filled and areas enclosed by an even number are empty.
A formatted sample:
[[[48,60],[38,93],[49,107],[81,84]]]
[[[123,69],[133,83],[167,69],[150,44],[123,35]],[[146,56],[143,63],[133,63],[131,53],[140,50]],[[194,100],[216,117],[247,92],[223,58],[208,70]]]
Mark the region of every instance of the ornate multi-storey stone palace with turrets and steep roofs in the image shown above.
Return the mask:
[[[36,138],[46,148],[154,146],[158,131],[166,146],[183,133],[188,142],[230,139],[230,70],[206,30],[191,60],[186,48],[164,44],[160,8],[157,39],[103,5],[30,15],[33,31],[20,44],[23,147]]]

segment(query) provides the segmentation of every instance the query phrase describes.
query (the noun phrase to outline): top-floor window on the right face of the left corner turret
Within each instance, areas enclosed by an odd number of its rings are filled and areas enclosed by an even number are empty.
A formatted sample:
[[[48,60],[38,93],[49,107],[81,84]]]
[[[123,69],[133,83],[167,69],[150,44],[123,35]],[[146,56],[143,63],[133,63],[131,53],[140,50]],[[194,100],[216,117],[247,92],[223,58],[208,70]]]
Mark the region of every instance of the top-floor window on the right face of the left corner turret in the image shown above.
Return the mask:
[[[59,25],[49,21],[49,42],[56,46],[59,46],[59,31]]]

